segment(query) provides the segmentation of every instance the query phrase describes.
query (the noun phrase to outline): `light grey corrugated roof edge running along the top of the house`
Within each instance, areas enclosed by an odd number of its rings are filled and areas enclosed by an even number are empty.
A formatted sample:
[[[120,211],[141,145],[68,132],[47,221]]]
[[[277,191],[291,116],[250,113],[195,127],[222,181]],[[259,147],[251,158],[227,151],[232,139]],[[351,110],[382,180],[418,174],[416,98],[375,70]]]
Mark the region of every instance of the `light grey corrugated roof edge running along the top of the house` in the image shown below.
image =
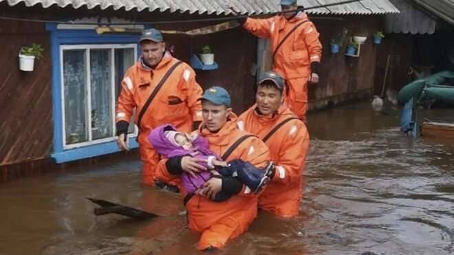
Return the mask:
[[[188,12],[197,14],[228,15],[232,11],[227,7],[230,3],[235,10],[241,14],[267,14],[279,11],[279,0],[0,0],[8,2],[9,5],[24,3],[26,6],[42,5],[49,8],[56,5],[61,8],[71,6],[78,9],[100,8],[105,10],[126,11],[148,11],[153,12]],[[339,3],[345,0],[299,0],[299,4],[305,8],[324,5],[328,3]],[[385,14],[398,13],[399,10],[389,0],[362,0],[358,3],[347,3],[343,5],[330,6],[307,10],[310,14]]]

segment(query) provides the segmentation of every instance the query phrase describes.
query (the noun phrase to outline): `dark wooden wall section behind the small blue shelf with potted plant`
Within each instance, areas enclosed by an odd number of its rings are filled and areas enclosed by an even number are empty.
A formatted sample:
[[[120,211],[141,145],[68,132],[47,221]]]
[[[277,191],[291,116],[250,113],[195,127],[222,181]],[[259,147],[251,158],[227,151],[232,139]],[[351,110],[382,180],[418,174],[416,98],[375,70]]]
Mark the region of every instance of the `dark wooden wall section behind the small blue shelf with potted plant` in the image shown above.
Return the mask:
[[[200,47],[210,45],[219,69],[195,69],[197,82],[204,89],[214,85],[225,87],[232,96],[233,111],[237,114],[253,104],[255,75],[252,66],[256,62],[256,38],[241,27],[192,38],[167,35],[166,43],[175,45],[175,56],[186,62],[191,54],[199,52]]]

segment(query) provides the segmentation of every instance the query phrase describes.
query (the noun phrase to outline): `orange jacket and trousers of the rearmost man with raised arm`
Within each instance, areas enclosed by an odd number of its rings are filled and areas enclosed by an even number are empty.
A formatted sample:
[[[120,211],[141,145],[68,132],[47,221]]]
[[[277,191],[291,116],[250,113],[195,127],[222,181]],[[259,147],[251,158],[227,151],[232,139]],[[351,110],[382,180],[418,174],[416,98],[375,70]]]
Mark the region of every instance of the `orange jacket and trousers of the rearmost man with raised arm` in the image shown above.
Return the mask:
[[[304,12],[298,12],[290,21],[283,16],[273,16],[269,19],[248,18],[243,27],[255,36],[270,38],[273,53],[284,36],[303,21],[306,22],[296,28],[277,50],[272,69],[280,74],[288,85],[286,102],[290,109],[305,121],[310,65],[312,62],[319,63],[322,54],[322,45],[314,24],[307,19]]]

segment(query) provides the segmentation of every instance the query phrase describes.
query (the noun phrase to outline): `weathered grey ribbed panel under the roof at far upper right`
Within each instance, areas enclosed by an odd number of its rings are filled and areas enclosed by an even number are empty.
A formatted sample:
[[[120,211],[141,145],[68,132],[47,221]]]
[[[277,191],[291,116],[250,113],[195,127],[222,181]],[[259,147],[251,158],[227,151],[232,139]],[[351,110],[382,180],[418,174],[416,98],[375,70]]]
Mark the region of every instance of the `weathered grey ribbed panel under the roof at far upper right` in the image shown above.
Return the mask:
[[[433,34],[436,21],[407,0],[391,0],[400,14],[385,16],[385,32],[404,34]]]

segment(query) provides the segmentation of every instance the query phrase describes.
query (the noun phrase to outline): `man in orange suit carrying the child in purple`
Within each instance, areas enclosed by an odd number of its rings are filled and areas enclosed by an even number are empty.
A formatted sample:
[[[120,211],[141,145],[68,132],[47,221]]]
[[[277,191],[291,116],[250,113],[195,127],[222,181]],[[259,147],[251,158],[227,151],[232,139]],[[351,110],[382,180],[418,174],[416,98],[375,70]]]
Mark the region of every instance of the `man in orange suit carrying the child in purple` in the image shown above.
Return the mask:
[[[230,95],[225,89],[211,87],[205,91],[202,115],[203,122],[198,132],[208,140],[211,151],[223,155],[232,151],[229,148],[241,137],[247,137],[241,139],[243,142],[224,160],[242,159],[259,168],[266,166],[270,159],[268,148],[259,138],[237,128],[237,117],[232,112]],[[197,163],[200,160],[191,156],[163,159],[157,177],[169,182],[180,178],[183,171],[198,173],[206,170]],[[180,190],[185,196],[189,228],[202,232],[197,243],[198,250],[224,247],[228,240],[245,232],[257,216],[257,195],[234,177],[212,177],[195,194],[187,194],[182,186]],[[230,193],[232,197],[221,202],[211,200],[220,190]]]

